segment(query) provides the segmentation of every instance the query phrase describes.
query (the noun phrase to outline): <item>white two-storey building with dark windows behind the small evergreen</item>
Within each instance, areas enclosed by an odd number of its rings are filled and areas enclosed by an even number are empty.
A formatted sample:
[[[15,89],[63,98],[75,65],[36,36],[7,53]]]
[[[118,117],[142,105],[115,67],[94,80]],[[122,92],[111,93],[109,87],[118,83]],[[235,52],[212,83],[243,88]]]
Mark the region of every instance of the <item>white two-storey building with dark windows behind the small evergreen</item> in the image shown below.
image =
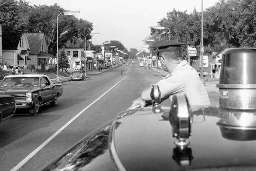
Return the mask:
[[[69,64],[70,64],[70,68],[68,69],[68,72],[72,72],[76,69],[78,70],[82,70],[82,68],[84,67],[84,61],[85,61],[85,57],[84,57],[84,49],[83,48],[62,48],[59,49],[59,54],[61,53],[61,51],[65,52],[65,54],[67,55]]]

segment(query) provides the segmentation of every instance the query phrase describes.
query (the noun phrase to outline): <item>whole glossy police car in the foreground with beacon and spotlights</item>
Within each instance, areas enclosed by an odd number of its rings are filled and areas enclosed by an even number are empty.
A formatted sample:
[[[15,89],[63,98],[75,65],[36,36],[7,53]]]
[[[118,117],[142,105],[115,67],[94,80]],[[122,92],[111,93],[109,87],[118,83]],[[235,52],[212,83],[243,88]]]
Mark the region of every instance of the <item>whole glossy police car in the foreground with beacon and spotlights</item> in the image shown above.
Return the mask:
[[[185,94],[161,107],[152,85],[151,107],[119,113],[42,171],[256,171],[256,49],[222,57],[219,107]]]

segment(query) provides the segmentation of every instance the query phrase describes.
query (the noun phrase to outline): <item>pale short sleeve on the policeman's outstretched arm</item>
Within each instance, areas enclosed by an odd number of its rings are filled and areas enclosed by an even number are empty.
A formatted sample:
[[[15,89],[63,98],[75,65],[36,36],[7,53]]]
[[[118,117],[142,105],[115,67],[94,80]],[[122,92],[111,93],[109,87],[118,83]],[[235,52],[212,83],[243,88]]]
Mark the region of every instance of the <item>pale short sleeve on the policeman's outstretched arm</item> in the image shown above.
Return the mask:
[[[170,76],[156,83],[159,86],[162,98],[184,91],[185,86],[181,77],[182,76]]]

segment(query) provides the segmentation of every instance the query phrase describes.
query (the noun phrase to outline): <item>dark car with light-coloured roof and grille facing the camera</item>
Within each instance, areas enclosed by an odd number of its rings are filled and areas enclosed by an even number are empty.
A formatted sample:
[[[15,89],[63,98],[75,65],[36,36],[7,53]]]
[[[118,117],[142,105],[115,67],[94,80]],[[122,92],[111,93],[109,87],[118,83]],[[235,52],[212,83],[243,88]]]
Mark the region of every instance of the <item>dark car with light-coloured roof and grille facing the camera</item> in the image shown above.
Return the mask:
[[[31,115],[37,115],[42,105],[56,106],[62,93],[61,84],[54,84],[42,74],[9,75],[0,83],[0,95],[13,96],[16,108],[27,108]]]

